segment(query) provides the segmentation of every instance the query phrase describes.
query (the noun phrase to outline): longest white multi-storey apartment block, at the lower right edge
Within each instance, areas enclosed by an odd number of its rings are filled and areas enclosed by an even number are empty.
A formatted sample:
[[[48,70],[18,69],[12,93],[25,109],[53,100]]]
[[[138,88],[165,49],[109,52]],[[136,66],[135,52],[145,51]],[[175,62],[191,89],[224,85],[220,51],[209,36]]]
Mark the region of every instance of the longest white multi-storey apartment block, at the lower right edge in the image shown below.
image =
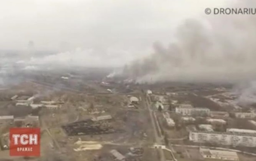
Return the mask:
[[[195,143],[256,147],[256,134],[235,134],[207,131],[190,131],[189,140]]]

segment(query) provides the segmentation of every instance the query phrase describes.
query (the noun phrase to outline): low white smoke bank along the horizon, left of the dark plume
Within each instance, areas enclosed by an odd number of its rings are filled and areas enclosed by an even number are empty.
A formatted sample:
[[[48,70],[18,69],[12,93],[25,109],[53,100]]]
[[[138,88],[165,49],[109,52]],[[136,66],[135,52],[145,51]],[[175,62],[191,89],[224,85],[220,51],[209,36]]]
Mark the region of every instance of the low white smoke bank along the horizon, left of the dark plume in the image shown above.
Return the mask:
[[[107,50],[97,51],[94,49],[75,49],[73,51],[61,52],[42,58],[31,58],[27,64],[61,65],[61,66],[83,66],[83,67],[120,67],[125,63],[131,63],[134,57],[129,51]],[[31,66],[27,67],[28,69]]]

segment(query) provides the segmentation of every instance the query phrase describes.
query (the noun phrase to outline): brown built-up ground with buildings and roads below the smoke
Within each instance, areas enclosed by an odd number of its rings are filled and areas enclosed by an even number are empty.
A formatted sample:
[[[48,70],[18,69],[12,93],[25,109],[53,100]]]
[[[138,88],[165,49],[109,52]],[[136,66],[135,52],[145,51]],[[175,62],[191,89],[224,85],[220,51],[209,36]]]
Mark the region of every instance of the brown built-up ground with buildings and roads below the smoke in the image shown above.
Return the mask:
[[[230,87],[89,78],[32,74],[1,89],[1,158],[256,161],[255,105]],[[40,158],[9,156],[11,127],[41,129]]]

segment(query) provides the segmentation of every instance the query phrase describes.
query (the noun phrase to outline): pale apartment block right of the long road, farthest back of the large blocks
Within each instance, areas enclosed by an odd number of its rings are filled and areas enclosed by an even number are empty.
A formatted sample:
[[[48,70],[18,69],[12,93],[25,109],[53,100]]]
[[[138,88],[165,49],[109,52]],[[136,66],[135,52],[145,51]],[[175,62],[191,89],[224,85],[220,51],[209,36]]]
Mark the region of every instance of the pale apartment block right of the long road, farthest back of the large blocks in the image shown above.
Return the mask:
[[[179,113],[183,116],[207,116],[210,113],[210,109],[208,108],[184,108],[184,107],[176,107],[175,112]]]

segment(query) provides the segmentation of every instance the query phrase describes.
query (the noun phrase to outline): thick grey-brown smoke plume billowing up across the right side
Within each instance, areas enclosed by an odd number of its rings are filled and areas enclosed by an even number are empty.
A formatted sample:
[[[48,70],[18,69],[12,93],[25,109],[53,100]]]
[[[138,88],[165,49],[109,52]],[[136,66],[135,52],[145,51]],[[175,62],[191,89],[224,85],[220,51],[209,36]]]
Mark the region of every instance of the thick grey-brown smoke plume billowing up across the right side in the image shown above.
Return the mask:
[[[228,7],[254,8],[256,2],[238,1]],[[174,37],[169,46],[154,43],[154,53],[125,66],[124,74],[137,82],[152,83],[236,82],[256,76],[255,15],[187,19]]]

